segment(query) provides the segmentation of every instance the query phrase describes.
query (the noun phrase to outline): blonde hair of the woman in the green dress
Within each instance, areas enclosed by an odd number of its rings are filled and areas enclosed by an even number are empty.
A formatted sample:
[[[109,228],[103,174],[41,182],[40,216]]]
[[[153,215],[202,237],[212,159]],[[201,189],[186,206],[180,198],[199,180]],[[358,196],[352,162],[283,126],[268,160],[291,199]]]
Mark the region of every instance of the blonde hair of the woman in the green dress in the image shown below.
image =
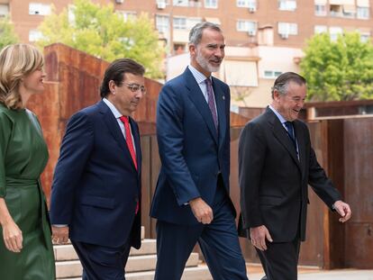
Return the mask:
[[[0,103],[9,109],[23,108],[19,86],[23,77],[43,67],[41,52],[28,44],[6,46],[0,52]]]

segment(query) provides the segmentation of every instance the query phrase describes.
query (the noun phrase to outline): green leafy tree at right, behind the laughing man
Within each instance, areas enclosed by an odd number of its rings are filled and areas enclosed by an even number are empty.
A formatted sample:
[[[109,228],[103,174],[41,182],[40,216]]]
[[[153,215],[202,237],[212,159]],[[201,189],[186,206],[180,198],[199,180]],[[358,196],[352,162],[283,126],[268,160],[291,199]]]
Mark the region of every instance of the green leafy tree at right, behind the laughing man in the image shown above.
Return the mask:
[[[373,45],[360,41],[358,32],[332,41],[328,33],[307,42],[300,64],[312,101],[373,98]]]

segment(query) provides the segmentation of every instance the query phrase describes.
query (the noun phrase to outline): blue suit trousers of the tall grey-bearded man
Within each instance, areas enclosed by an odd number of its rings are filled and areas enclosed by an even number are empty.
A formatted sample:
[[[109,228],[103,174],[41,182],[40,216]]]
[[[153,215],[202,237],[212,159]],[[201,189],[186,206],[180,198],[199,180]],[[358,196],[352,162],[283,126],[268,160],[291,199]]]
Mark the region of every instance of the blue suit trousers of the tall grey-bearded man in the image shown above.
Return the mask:
[[[214,280],[248,279],[232,206],[223,185],[217,187],[212,208],[214,220],[210,224],[180,225],[157,221],[155,280],[179,280],[196,242]]]

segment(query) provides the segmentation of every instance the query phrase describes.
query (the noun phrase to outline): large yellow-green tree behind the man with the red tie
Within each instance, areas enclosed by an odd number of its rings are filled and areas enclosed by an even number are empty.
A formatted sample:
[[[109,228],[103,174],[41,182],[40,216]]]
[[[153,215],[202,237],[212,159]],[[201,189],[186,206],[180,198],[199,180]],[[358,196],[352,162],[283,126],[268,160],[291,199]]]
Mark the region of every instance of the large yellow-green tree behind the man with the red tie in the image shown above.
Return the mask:
[[[53,12],[47,16],[39,30],[43,35],[37,41],[40,47],[61,42],[108,61],[135,59],[147,69],[147,77],[162,77],[165,50],[146,14],[124,21],[112,4],[75,0],[69,12],[64,9],[60,14]]]

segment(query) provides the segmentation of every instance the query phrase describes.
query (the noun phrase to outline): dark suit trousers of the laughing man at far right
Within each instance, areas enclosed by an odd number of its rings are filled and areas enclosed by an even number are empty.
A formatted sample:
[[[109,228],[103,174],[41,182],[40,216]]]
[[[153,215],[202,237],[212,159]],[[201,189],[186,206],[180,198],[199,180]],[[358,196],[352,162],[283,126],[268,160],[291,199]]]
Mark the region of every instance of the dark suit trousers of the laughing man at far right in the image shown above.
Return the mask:
[[[257,248],[261,265],[268,280],[296,280],[300,240],[293,242],[270,243],[267,250]]]

